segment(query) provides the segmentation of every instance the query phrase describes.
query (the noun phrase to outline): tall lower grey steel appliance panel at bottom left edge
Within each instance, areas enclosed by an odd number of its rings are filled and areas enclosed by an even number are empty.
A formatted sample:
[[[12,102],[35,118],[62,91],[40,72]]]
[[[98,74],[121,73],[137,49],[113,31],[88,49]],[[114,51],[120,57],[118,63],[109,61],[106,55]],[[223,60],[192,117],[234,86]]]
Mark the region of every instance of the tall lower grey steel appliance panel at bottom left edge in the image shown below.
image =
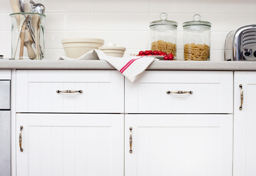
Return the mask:
[[[10,111],[0,111],[0,134],[0,176],[8,176],[11,175]]]

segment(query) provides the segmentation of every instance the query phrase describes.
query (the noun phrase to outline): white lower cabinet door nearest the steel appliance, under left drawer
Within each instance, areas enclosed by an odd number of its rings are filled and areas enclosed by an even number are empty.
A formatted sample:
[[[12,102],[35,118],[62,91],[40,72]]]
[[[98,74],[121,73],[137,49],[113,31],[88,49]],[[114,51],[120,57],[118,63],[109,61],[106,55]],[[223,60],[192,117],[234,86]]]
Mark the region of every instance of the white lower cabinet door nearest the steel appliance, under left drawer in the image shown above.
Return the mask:
[[[17,114],[16,127],[17,176],[124,174],[124,115]]]

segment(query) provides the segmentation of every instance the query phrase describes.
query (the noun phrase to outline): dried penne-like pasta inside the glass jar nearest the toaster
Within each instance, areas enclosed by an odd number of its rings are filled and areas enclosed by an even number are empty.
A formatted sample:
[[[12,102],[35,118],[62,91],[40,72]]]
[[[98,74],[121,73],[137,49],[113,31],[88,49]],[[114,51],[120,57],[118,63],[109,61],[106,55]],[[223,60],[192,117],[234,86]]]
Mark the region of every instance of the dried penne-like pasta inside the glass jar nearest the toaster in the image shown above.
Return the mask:
[[[210,47],[206,44],[187,43],[184,45],[184,58],[189,61],[207,61]]]

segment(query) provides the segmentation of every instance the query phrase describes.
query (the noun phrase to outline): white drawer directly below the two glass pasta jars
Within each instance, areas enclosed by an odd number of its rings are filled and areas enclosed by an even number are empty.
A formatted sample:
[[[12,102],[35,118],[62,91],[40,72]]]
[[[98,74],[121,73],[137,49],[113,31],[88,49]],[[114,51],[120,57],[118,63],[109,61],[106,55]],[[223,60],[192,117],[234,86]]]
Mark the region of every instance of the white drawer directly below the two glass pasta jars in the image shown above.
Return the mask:
[[[233,113],[233,72],[147,70],[125,79],[125,113]]]

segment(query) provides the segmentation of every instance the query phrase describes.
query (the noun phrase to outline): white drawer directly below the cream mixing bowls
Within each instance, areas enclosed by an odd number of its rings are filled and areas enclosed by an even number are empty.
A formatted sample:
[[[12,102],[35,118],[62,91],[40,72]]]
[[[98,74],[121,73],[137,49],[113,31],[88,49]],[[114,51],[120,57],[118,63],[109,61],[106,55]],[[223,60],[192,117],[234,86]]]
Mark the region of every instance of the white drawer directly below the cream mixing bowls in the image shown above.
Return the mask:
[[[124,112],[124,77],[117,70],[17,70],[16,77],[16,112]]]

